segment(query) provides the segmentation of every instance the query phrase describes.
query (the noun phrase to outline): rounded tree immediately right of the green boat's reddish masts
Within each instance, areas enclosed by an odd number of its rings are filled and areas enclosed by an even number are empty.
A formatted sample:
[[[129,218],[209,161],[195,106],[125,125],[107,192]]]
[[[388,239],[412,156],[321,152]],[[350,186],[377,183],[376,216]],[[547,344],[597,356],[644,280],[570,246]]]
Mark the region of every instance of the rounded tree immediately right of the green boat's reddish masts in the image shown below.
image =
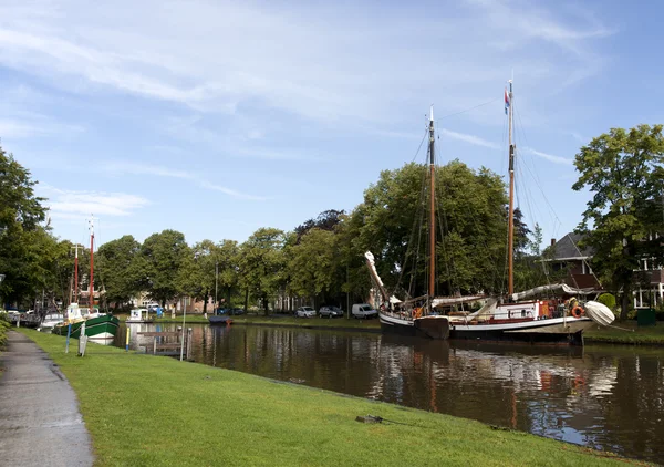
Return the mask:
[[[144,271],[138,260],[141,243],[131,235],[102,245],[95,255],[95,269],[106,290],[106,300],[115,308],[127,303],[141,291]],[[98,258],[98,259],[97,259]],[[97,262],[98,261],[98,262]]]

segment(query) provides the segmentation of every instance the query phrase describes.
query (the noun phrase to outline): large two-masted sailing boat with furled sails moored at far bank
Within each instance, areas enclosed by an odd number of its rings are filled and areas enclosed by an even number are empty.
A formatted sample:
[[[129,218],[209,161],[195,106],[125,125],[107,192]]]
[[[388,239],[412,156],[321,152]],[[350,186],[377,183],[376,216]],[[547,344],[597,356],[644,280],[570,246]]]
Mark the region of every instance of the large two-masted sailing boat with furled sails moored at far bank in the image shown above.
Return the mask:
[[[589,293],[588,290],[573,289],[567,284],[547,284],[520,293],[513,292],[513,187],[515,187],[515,145],[512,144],[512,82],[509,82],[509,94],[506,91],[506,105],[509,110],[509,210],[508,210],[508,295],[499,301],[496,298],[486,300],[484,307],[474,313],[461,315],[440,315],[438,311],[455,304],[477,301],[481,297],[435,298],[435,206],[434,206],[434,115],[429,121],[429,270],[428,293],[419,298],[425,305],[403,303],[390,297],[377,274],[371,252],[365,259],[374,286],[376,286],[383,304],[378,316],[381,329],[385,332],[397,332],[409,335],[424,335],[433,339],[473,339],[489,341],[512,341],[549,344],[583,344],[583,331],[593,324],[609,325],[613,322],[613,312],[595,301],[580,302],[578,297]],[[539,299],[547,298],[546,300]],[[550,297],[557,297],[550,299]],[[567,300],[566,300],[567,299]],[[433,325],[435,323],[435,325]],[[448,328],[445,331],[445,328]],[[432,331],[433,330],[433,331]]]

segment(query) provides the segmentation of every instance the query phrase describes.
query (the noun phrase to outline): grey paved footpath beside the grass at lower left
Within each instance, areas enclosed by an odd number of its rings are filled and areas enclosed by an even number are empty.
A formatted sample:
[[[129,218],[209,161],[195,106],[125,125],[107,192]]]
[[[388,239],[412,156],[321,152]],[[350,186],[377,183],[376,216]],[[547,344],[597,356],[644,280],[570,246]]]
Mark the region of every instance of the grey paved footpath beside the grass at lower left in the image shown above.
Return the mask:
[[[76,394],[49,355],[10,331],[0,354],[0,465],[91,466]]]

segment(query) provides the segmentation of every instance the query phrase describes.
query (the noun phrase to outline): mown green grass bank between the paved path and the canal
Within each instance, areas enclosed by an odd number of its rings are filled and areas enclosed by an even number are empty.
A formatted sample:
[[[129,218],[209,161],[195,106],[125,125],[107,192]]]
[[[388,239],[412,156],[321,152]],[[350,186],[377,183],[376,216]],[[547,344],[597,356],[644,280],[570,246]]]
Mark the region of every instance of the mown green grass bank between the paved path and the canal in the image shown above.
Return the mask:
[[[600,466],[612,455],[478,422],[20,330],[75,390],[98,466]],[[490,401],[485,403],[489,404]],[[362,424],[357,415],[398,424]]]

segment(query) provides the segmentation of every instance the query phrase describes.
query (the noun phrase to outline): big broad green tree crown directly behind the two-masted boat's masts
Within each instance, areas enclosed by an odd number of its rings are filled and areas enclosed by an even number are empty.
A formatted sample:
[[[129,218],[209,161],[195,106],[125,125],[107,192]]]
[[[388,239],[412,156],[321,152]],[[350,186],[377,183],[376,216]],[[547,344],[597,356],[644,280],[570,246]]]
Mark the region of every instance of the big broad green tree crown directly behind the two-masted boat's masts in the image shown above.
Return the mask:
[[[382,172],[352,214],[354,247],[374,253],[387,289],[403,288],[411,295],[426,292],[426,176],[418,164]],[[506,203],[502,180],[486,168],[453,160],[437,169],[438,293],[502,289],[496,271],[505,268]]]

